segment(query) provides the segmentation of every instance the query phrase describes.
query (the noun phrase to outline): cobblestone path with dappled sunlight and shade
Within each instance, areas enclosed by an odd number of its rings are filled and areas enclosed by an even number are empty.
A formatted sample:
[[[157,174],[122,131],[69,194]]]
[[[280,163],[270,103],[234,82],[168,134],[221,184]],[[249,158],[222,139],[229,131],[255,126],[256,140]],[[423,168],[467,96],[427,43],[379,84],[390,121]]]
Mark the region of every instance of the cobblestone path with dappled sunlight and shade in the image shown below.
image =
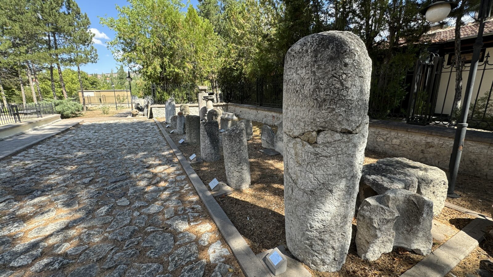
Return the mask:
[[[154,122],[87,123],[0,161],[0,277],[243,276]]]

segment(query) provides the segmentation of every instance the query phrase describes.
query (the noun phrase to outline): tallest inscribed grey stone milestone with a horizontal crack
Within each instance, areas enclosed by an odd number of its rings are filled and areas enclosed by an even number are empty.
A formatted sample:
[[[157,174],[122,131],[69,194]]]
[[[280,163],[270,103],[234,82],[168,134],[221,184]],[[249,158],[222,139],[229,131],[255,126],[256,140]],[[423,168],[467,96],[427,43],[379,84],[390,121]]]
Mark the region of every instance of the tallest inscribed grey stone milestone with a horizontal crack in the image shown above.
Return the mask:
[[[338,271],[346,261],[368,135],[370,75],[365,45],[350,32],[305,36],[286,54],[286,242],[318,271]]]

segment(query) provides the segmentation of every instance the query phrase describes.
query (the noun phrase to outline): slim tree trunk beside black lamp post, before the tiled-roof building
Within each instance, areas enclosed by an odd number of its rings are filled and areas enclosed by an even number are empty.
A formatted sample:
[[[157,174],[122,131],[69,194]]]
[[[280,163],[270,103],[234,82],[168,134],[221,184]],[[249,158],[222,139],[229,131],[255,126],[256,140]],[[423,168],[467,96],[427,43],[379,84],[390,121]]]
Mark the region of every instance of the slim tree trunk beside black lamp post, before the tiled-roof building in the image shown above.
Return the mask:
[[[456,92],[454,94],[454,102],[452,103],[452,110],[450,115],[452,117],[458,116],[460,113],[460,103],[462,98],[462,59],[460,58],[460,23],[462,19],[463,3],[458,8],[458,14],[456,18],[455,28],[455,67],[456,67]]]

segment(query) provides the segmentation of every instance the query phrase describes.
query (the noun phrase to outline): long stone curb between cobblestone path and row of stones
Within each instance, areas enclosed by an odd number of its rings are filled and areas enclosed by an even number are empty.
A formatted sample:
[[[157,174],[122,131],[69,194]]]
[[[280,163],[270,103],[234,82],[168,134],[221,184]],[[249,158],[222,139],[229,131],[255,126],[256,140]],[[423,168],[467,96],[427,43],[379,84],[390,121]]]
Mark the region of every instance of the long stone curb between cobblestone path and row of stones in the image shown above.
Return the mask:
[[[211,214],[212,220],[217,225],[217,229],[224,237],[226,243],[228,243],[233,255],[235,255],[243,273],[246,277],[273,277],[269,269],[265,267],[260,259],[258,259],[251,248],[246,244],[240,232],[233,225],[231,220],[224,212],[224,210],[217,204],[211,192],[207,189],[200,177],[195,173],[192,166],[187,162],[181,151],[176,146],[175,142],[170,138],[166,130],[160,122],[154,119],[154,122],[158,126],[163,137],[170,144],[171,149],[176,155],[176,158],[181,164],[181,167],[188,175],[188,178],[192,182],[197,194],[206,206],[209,214]]]

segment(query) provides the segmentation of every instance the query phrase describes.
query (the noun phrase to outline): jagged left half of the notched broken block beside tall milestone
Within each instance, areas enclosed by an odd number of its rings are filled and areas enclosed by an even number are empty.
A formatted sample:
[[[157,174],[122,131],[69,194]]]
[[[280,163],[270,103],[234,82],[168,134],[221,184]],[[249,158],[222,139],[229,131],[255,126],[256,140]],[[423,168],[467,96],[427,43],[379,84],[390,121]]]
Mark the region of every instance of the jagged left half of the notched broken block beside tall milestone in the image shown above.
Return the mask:
[[[358,209],[356,248],[361,259],[374,261],[392,251],[393,226],[399,213],[388,207],[384,195],[366,198]]]

